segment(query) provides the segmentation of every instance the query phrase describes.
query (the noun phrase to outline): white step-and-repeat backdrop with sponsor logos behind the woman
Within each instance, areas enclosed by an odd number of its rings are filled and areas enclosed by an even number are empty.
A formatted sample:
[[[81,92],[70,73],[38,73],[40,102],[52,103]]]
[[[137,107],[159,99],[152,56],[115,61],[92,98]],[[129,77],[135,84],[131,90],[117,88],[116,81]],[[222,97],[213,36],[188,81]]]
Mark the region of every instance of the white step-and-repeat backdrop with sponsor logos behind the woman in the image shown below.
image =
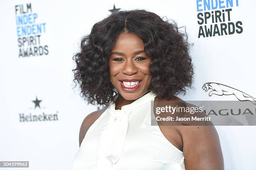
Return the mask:
[[[73,88],[72,56],[94,23],[119,10],[145,9],[186,26],[194,43],[195,79],[194,89],[180,98],[256,104],[254,0],[5,0],[0,5],[0,161],[29,161],[24,169],[31,170],[72,169],[82,120],[97,110]],[[254,170],[256,127],[216,129],[225,169]]]

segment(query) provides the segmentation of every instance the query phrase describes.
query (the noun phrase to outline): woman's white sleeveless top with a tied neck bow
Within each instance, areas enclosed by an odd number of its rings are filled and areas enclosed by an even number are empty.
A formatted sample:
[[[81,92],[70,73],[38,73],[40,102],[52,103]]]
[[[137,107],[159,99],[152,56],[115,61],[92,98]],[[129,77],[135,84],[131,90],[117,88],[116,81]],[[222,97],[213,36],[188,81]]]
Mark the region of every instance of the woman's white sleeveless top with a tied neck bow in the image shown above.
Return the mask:
[[[85,134],[73,170],[185,170],[183,152],[151,126],[155,97],[150,91],[121,110],[111,101]]]

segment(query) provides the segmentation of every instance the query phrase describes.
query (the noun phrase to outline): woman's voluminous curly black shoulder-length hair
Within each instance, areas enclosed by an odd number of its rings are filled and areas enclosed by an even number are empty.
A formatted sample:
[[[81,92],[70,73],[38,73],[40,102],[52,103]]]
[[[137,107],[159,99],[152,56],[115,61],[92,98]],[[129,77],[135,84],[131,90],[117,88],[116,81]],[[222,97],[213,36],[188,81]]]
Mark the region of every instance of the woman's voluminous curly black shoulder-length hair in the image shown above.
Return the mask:
[[[149,90],[160,99],[186,94],[192,87],[192,44],[187,41],[186,30],[181,33],[174,21],[164,21],[146,10],[119,11],[95,23],[73,56],[77,64],[72,70],[74,82],[85,100],[108,105],[118,93],[110,82],[108,59],[120,33],[134,33],[143,41],[145,53],[151,57]]]

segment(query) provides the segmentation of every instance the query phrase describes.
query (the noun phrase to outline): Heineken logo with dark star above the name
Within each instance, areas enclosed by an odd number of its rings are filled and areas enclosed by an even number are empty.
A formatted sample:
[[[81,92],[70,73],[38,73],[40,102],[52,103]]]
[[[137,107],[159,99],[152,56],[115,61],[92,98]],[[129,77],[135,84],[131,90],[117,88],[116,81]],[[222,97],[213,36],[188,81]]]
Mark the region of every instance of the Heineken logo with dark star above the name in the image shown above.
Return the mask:
[[[20,122],[45,122],[45,121],[58,121],[58,111],[54,114],[49,114],[46,107],[43,106],[43,100],[36,98],[31,100],[31,107],[27,112],[19,113]],[[32,107],[33,106],[33,107]]]

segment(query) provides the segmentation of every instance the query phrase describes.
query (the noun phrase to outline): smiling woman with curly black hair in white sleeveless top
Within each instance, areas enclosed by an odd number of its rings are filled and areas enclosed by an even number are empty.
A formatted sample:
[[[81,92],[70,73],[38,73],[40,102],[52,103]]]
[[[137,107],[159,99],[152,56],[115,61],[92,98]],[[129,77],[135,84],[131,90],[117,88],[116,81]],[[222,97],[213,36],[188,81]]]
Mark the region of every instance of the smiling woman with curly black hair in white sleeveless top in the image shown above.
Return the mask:
[[[91,104],[74,170],[222,170],[213,126],[151,126],[151,101],[181,101],[193,67],[187,35],[145,10],[96,23],[74,56],[74,80]]]

